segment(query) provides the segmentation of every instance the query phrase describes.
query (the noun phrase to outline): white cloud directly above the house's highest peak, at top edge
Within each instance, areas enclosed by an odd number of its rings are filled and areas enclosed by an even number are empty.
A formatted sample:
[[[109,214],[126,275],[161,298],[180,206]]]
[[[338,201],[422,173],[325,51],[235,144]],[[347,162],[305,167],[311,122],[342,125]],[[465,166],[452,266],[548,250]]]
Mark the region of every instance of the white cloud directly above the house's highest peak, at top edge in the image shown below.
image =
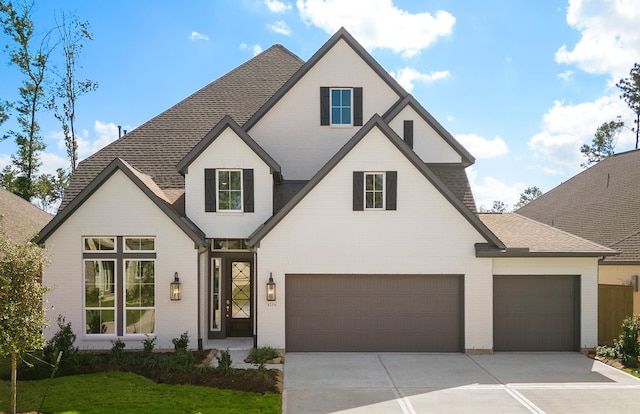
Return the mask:
[[[439,37],[451,34],[455,17],[439,10],[412,14],[397,8],[392,0],[297,0],[300,17],[307,25],[329,34],[345,27],[369,49],[391,49],[411,57]]]

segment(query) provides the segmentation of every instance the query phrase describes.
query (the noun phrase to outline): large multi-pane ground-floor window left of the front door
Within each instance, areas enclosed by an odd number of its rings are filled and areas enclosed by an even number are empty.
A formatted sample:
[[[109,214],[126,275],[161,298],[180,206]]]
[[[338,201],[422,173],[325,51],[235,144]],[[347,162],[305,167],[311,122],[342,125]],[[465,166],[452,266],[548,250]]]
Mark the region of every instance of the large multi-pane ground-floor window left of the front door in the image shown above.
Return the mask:
[[[154,237],[83,237],[87,335],[155,333]]]

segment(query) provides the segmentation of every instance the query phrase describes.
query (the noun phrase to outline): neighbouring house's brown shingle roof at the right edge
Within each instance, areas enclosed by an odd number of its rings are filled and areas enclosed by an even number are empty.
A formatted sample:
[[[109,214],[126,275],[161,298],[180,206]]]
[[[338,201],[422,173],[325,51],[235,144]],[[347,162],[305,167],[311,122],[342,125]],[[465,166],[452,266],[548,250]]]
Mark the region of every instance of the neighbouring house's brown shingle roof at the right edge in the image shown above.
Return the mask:
[[[606,158],[517,213],[619,250],[605,262],[640,263],[640,150]]]

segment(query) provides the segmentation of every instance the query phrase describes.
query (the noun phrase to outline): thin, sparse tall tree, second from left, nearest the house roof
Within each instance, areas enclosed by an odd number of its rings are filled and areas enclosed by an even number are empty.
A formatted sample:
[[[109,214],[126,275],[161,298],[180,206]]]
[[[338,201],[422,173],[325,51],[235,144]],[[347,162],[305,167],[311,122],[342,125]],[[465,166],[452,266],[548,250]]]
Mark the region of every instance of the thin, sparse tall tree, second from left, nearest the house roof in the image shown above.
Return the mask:
[[[76,16],[67,17],[63,13],[58,32],[64,64],[62,69],[56,70],[58,80],[55,83],[49,107],[53,109],[56,119],[62,125],[71,174],[73,174],[78,163],[78,141],[75,132],[76,101],[80,96],[95,91],[98,83],[89,79],[76,79],[77,61],[84,42],[93,40],[89,32],[89,22],[81,22]]]

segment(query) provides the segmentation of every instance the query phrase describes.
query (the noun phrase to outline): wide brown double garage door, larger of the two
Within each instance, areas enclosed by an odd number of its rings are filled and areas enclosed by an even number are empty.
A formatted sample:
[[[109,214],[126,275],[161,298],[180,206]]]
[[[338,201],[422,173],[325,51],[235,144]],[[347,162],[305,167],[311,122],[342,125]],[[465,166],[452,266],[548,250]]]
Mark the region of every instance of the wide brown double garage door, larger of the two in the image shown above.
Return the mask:
[[[286,275],[287,351],[460,352],[463,278]]]

